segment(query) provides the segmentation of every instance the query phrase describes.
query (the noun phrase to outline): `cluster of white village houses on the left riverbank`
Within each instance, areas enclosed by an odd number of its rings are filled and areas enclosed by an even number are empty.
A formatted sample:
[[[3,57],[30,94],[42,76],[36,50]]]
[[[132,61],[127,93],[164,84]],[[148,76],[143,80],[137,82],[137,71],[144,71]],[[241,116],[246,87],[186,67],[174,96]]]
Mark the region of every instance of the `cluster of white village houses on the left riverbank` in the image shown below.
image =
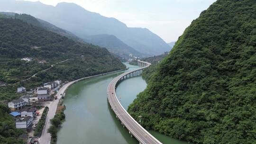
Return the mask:
[[[50,91],[56,90],[61,84],[60,80],[53,82],[47,82],[43,87],[38,87],[34,93],[34,97],[29,95],[26,91],[26,88],[19,87],[17,88],[18,93],[27,93],[21,96],[19,99],[12,100],[8,103],[8,107],[11,110],[10,115],[15,117],[16,128],[23,130],[30,130],[32,126],[32,121],[37,117],[39,111],[37,111],[36,105],[31,103],[32,99],[37,98],[38,102],[53,100],[53,97],[50,96]],[[32,92],[33,93],[33,92]]]

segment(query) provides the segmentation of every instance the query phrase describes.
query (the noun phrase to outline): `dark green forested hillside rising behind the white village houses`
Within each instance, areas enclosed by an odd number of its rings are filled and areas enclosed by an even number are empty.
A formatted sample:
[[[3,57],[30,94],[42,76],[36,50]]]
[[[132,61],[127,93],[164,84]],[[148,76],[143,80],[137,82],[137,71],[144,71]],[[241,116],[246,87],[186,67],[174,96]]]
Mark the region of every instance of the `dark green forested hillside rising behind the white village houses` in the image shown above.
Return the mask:
[[[33,61],[20,60],[31,57]],[[44,63],[40,63],[44,62]],[[60,63],[62,62],[62,63]],[[51,69],[45,70],[51,65]],[[28,24],[18,18],[0,18],[0,81],[16,83],[39,72],[26,83],[27,88],[55,79],[74,80],[125,68],[110,52]],[[9,99],[17,88],[0,87],[0,99]],[[16,88],[15,88],[16,87]]]

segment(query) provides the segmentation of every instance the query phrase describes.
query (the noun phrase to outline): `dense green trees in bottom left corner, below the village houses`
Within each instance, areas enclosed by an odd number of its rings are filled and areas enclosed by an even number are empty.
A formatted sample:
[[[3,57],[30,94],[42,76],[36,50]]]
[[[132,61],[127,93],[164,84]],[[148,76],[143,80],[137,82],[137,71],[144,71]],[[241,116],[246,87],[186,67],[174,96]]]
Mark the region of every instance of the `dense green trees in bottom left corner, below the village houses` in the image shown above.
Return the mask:
[[[9,108],[0,104],[0,144],[26,144],[17,138],[24,131],[15,128],[15,120],[9,113]]]

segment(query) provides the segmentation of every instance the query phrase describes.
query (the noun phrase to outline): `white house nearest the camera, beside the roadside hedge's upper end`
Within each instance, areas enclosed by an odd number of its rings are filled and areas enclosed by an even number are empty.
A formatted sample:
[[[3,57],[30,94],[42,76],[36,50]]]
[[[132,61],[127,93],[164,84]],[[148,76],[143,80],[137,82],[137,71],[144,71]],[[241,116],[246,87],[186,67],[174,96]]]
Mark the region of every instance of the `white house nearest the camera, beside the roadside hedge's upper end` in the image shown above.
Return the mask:
[[[16,128],[21,128],[23,130],[28,130],[32,126],[32,117],[20,117],[15,122]]]

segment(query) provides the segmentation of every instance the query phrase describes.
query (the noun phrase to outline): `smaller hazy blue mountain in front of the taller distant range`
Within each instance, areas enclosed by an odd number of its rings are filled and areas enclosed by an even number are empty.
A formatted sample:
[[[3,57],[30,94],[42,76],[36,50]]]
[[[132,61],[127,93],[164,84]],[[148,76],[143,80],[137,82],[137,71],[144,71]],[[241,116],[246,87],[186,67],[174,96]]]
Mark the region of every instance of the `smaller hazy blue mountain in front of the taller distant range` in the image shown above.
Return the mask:
[[[87,36],[84,38],[84,40],[88,43],[91,43],[93,45],[99,45],[101,47],[106,47],[110,53],[119,55],[123,58],[131,58],[129,54],[132,54],[133,56],[140,57],[140,56],[146,56],[145,54],[141,54],[132,47],[126,45],[123,43],[119,38],[117,38],[114,35],[93,35],[93,36]]]

